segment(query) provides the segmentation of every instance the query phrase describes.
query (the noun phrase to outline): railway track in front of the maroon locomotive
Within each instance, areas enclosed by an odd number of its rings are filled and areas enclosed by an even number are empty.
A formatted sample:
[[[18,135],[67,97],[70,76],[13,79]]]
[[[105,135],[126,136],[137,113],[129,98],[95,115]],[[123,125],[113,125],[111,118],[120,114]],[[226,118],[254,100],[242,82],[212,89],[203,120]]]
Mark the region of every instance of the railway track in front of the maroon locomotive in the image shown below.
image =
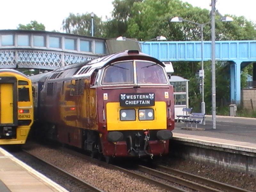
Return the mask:
[[[81,154],[79,152],[76,152],[76,151],[73,151],[73,150],[70,150],[67,148],[64,148],[63,150],[67,151],[68,153],[72,153],[76,156],[80,156],[80,157],[86,159],[87,161],[91,161],[91,162],[99,164],[101,166],[108,167],[109,169],[115,169],[115,170],[124,172],[128,175],[131,175],[132,177],[137,178],[137,179],[144,180],[150,184],[157,185],[161,188],[164,188],[167,191],[187,191],[186,189],[182,188],[182,187],[185,187],[185,188],[190,188],[192,190],[201,191],[201,192],[223,192],[223,191],[250,192],[250,191],[242,189],[242,188],[237,188],[237,187],[225,184],[225,183],[220,183],[220,182],[206,179],[206,178],[203,178],[203,177],[200,177],[197,175],[193,175],[190,173],[175,170],[175,169],[163,166],[163,165],[154,165],[155,169],[148,168],[143,165],[137,165],[135,167],[136,171],[140,171],[140,172],[143,172],[143,173],[153,176],[153,177],[151,177],[151,176],[146,176],[146,175],[134,172],[132,170],[128,170],[124,167],[107,164],[107,163],[99,161],[97,159],[92,159],[89,156],[86,156],[84,154]],[[161,180],[165,180],[166,182],[156,180],[156,178],[154,178],[154,177],[160,178]],[[168,184],[170,182],[179,184],[181,186],[181,188]]]

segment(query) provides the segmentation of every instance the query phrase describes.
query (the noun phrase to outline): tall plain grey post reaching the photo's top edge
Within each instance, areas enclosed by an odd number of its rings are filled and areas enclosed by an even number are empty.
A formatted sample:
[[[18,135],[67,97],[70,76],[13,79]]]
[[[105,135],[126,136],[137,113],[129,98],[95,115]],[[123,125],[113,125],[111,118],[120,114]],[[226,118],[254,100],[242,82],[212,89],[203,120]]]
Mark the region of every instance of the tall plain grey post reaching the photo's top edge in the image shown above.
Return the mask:
[[[212,128],[216,129],[216,83],[215,83],[215,1],[212,0]]]

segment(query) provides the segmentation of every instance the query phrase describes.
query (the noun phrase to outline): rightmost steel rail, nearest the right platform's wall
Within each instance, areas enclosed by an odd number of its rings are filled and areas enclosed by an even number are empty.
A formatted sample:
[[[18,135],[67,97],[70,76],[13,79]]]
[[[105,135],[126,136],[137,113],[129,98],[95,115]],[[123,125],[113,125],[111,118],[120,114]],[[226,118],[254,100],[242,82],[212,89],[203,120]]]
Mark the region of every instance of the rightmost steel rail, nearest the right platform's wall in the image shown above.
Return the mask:
[[[194,175],[194,174],[191,174],[191,173],[179,171],[179,170],[172,169],[170,167],[166,167],[166,166],[163,166],[163,165],[156,165],[155,168],[157,168],[159,170],[162,170],[162,171],[168,171],[168,173],[170,173],[170,174],[181,176],[181,177],[189,179],[189,180],[204,183],[205,185],[211,186],[212,188],[218,188],[221,191],[250,192],[248,190],[238,188],[238,187],[235,187],[235,186],[231,186],[231,185],[228,185],[226,183],[221,183],[221,182],[218,182],[218,181],[210,180],[210,179],[198,176],[198,175]]]

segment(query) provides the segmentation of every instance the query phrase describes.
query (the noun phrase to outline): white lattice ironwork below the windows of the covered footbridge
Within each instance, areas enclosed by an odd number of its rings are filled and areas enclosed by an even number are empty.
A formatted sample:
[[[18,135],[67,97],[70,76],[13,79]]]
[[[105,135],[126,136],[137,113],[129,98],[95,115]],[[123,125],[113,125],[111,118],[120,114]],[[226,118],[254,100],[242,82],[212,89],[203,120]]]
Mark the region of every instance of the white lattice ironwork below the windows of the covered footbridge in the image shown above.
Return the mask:
[[[56,69],[98,57],[47,50],[6,49],[0,50],[0,68]]]

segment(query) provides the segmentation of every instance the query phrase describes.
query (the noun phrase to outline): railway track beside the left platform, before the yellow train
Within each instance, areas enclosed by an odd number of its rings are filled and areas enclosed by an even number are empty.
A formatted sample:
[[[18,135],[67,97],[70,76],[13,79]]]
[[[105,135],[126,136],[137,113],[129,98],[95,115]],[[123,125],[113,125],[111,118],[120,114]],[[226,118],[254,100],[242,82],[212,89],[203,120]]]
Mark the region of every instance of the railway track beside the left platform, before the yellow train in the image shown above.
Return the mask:
[[[24,156],[21,153],[26,153]],[[22,150],[19,153],[13,154],[17,158],[21,159],[26,164],[29,164],[31,167],[41,172],[54,182],[58,183],[62,187],[66,188],[68,191],[75,192],[104,192],[89,183],[77,178],[76,176],[56,167],[53,164],[50,164],[33,154],[29,153],[27,150]],[[31,162],[33,162],[31,164]]]

